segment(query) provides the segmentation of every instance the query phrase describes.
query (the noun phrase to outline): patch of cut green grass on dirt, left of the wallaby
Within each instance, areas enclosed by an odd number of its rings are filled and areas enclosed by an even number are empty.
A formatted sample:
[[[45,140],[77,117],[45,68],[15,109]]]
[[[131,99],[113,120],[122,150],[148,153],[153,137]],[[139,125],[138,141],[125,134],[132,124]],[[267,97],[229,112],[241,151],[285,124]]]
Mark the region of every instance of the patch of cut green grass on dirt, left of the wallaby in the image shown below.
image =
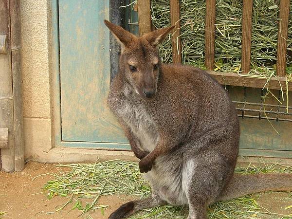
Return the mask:
[[[142,198],[150,194],[150,186],[142,179],[138,165],[134,162],[114,160],[59,166],[71,167],[72,170],[51,174],[55,179],[44,185],[44,189],[49,192],[48,199],[56,195],[70,197],[57,210],[62,210],[69,202],[74,201],[73,209],[83,213],[99,208],[103,211],[108,206],[96,204],[100,196],[125,194]]]

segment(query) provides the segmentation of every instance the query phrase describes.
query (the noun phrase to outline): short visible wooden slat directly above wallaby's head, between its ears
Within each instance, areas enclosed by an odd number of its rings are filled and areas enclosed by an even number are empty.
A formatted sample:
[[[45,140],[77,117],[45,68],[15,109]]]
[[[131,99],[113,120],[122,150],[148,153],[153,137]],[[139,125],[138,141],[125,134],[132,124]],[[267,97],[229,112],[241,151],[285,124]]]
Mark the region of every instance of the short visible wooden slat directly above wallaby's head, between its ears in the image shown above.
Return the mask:
[[[139,35],[142,36],[152,31],[151,21],[151,0],[138,0],[138,21],[139,21]]]

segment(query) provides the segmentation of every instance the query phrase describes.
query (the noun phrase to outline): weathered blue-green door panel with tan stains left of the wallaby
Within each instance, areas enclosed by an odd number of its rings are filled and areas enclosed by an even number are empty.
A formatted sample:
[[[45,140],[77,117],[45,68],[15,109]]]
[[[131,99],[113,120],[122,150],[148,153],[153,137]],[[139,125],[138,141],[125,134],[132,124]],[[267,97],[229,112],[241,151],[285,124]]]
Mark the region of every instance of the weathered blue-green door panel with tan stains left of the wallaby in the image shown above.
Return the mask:
[[[128,148],[106,105],[110,41],[103,20],[109,18],[109,1],[59,0],[58,9],[62,141]]]

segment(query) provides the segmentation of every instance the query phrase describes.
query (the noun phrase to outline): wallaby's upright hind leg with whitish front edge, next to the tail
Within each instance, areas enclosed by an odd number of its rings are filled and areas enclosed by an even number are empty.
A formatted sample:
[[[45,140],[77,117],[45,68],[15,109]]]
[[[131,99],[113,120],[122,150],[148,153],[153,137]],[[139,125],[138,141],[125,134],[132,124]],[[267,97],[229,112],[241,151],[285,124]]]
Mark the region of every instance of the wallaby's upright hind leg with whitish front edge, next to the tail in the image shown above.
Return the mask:
[[[217,199],[232,176],[233,167],[229,165],[226,158],[214,152],[204,152],[186,159],[183,166],[183,190],[189,205],[187,219],[206,219],[207,205]]]

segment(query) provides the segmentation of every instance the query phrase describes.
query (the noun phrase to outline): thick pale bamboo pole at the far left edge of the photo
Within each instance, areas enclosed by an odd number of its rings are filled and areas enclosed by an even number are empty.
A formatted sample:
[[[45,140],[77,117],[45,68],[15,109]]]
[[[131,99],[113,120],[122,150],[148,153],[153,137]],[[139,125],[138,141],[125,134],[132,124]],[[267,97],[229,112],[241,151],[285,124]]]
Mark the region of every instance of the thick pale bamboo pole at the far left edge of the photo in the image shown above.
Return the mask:
[[[0,128],[8,128],[8,148],[1,149],[1,167],[14,171],[14,117],[10,47],[10,4],[0,1],[0,35],[6,35],[7,54],[0,54]]]

